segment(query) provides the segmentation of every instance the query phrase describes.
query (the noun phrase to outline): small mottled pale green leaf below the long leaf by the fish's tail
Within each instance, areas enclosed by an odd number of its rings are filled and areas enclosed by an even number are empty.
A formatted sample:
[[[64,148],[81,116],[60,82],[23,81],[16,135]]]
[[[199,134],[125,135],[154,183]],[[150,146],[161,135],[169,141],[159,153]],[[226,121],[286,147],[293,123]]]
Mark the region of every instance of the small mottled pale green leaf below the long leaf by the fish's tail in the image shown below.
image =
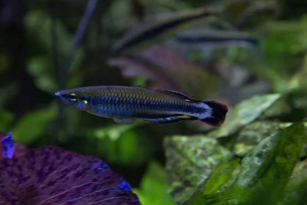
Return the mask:
[[[255,121],[240,130],[236,136],[234,153],[244,157],[253,150],[261,140],[269,137],[279,128],[292,125],[292,122]]]

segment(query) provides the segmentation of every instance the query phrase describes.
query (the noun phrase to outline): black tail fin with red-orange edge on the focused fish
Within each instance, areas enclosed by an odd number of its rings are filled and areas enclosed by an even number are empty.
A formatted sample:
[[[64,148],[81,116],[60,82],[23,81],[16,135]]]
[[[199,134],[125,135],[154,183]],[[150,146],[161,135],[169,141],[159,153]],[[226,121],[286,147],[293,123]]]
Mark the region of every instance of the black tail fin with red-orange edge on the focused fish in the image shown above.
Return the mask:
[[[199,119],[211,126],[220,127],[225,121],[228,107],[215,100],[204,101],[203,103],[206,105],[206,111]],[[210,115],[208,115],[208,107],[211,108]]]

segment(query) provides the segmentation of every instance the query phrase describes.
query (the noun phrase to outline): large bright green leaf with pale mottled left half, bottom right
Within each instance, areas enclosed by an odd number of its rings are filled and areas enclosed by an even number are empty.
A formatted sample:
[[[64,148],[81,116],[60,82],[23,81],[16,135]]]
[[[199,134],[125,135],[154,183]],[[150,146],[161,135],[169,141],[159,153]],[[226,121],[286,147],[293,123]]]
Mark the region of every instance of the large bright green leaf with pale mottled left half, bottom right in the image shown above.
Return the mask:
[[[203,195],[190,204],[277,204],[298,161],[303,136],[301,122],[276,131],[242,160],[241,171],[231,187]]]

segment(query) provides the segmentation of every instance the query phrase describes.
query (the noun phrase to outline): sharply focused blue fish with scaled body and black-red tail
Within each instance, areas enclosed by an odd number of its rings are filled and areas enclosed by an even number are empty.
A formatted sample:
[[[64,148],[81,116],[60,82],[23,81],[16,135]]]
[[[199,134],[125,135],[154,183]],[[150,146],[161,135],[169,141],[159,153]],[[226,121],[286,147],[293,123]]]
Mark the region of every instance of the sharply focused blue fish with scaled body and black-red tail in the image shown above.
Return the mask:
[[[135,118],[167,125],[183,120],[201,120],[213,127],[225,121],[228,107],[218,101],[193,99],[177,91],[147,86],[90,86],[54,93],[66,105],[119,124],[133,124]]]

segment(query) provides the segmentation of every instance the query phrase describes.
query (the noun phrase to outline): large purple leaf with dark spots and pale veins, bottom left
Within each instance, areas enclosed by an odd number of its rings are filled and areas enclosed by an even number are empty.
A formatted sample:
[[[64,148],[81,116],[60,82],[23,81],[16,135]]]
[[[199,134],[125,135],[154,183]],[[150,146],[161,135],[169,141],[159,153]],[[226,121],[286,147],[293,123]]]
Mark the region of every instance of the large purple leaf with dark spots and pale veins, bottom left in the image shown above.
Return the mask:
[[[0,161],[0,204],[140,204],[104,161],[53,146]]]

